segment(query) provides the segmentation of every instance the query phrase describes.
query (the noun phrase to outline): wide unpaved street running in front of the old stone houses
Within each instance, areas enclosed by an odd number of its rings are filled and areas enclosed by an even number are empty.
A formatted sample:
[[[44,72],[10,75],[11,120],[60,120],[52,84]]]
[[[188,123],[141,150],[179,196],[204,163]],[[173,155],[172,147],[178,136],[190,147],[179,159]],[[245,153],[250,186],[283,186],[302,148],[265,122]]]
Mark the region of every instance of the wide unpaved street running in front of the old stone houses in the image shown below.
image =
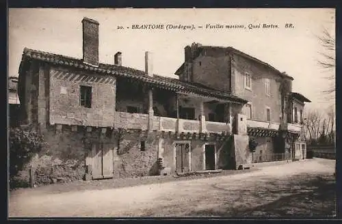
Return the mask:
[[[331,216],[334,160],[314,158],[249,173],[125,188],[11,193],[10,217]]]

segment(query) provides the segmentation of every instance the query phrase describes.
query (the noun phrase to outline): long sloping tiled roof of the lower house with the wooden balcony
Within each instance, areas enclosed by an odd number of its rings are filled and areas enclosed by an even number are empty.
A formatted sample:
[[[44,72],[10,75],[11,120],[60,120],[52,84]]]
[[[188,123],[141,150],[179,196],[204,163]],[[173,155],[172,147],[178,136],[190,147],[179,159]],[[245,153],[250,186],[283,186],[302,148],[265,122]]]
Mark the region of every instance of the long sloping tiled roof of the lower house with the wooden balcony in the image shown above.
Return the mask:
[[[220,90],[212,89],[204,85],[189,83],[179,79],[172,79],[166,76],[159,76],[157,74],[154,74],[153,76],[147,76],[142,70],[124,66],[116,66],[112,64],[98,64],[98,66],[90,66],[88,64],[83,64],[82,59],[24,48],[22,61],[27,59],[37,59],[55,65],[73,66],[74,68],[89,70],[91,72],[122,76],[126,77],[127,79],[142,81],[150,85],[154,85],[163,89],[170,89],[179,93],[196,94],[199,96],[218,98],[220,100],[228,100],[231,102],[247,102],[246,100],[238,98],[237,96],[233,96],[230,93],[221,92]]]

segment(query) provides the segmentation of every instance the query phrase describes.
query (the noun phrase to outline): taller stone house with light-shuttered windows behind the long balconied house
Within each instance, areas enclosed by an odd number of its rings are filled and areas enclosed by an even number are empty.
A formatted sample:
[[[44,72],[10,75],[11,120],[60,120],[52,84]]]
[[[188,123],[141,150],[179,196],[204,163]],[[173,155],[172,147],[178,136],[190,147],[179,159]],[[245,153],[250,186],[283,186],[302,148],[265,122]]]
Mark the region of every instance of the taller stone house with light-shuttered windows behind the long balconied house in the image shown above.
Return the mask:
[[[175,74],[182,81],[207,85],[248,101],[241,113],[247,118],[248,136],[259,143],[252,154],[254,162],[305,158],[303,111],[304,102],[311,101],[292,92],[293,77],[233,47],[196,43],[185,47],[185,62]],[[220,120],[218,113],[208,118]],[[290,150],[285,150],[284,140]]]

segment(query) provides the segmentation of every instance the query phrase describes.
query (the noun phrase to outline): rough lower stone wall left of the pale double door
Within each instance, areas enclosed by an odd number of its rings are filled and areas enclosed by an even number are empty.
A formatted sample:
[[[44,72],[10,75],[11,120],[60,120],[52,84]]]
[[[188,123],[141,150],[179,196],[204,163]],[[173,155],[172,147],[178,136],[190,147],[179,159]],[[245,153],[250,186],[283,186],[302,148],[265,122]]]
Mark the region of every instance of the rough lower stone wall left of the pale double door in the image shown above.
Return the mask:
[[[53,128],[43,133],[47,148],[36,154],[25,165],[17,178],[29,185],[29,169],[34,170],[34,184],[51,184],[57,180],[81,180],[86,173],[85,158],[88,150],[83,143],[84,133],[71,130],[55,132]]]

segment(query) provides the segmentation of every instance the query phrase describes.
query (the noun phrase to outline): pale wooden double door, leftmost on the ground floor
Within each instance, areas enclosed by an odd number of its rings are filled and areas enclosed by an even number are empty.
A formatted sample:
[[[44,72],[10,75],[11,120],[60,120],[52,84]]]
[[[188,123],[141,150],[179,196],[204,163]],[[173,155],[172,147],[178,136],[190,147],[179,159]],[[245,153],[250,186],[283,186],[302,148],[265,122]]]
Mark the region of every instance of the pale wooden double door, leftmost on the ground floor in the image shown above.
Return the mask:
[[[92,145],[92,179],[113,178],[114,148],[104,143]]]

